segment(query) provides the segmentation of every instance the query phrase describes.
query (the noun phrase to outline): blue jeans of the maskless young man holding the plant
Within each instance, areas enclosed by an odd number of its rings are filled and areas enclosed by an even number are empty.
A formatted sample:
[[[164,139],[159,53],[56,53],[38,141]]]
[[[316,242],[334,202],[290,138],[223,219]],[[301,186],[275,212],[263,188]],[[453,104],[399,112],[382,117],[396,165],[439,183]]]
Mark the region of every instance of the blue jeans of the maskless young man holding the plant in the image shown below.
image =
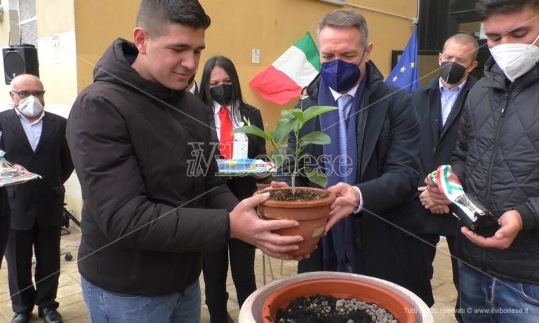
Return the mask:
[[[106,291],[81,276],[82,294],[91,322],[200,322],[199,281],[183,293],[133,296]]]

